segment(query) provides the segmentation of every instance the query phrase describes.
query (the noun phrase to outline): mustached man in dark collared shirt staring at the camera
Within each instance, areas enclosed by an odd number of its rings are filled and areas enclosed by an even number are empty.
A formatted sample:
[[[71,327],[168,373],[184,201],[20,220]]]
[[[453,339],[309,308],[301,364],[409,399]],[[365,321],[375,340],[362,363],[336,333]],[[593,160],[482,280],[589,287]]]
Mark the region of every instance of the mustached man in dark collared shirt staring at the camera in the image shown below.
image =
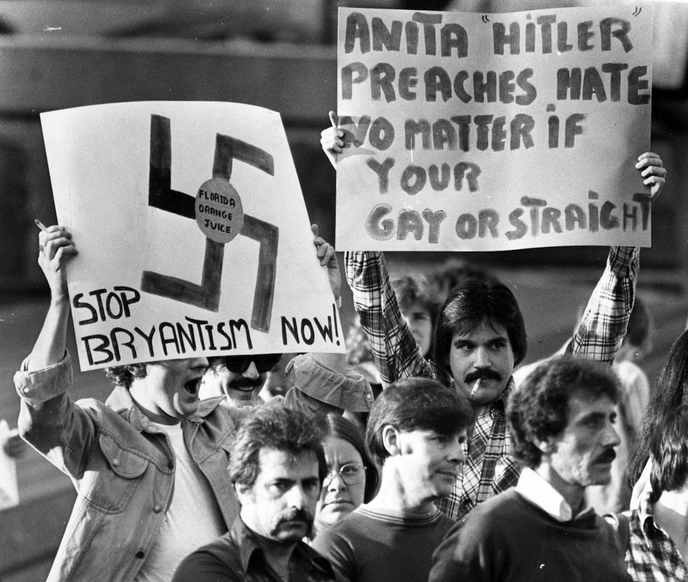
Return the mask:
[[[327,474],[321,439],[300,411],[254,409],[230,451],[239,517],[227,534],[187,556],[173,582],[334,581],[329,562],[303,542]]]

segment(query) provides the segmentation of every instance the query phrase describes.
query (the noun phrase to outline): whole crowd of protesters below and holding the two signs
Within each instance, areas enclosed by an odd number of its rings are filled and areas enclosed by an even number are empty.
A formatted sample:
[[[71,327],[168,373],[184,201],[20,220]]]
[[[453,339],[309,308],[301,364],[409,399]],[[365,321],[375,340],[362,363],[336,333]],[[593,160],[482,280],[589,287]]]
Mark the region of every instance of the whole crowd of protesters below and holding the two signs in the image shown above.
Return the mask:
[[[342,132],[321,143],[336,167]],[[654,199],[661,159],[635,167]],[[51,303],[15,375],[18,425],[78,492],[48,579],[688,579],[688,332],[656,385],[626,364],[651,345],[639,249],[610,249],[571,339],[532,366],[497,277],[458,263],[392,279],[383,253],[357,251],[346,357],[115,366],[105,402],[74,402],[78,241],[52,225],[39,247]]]

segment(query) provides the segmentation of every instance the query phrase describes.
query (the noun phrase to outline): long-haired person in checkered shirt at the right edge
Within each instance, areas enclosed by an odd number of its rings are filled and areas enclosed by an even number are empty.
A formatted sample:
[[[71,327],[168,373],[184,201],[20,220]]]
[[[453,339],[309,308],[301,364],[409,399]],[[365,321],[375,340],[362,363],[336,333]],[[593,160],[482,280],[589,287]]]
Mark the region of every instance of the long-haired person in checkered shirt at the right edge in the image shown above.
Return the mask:
[[[649,454],[651,490],[618,520],[626,567],[636,582],[688,580],[688,406],[656,425]]]

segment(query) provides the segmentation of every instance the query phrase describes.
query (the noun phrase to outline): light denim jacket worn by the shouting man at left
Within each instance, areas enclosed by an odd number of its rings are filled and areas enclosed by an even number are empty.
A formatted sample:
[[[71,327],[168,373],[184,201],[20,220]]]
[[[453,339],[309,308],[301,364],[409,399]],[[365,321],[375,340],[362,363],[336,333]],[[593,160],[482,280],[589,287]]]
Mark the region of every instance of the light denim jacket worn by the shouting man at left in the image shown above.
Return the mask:
[[[20,433],[78,493],[48,581],[133,580],[173,494],[175,459],[166,435],[125,388],[115,388],[105,404],[73,402],[69,354],[45,369],[25,369],[26,362],[14,378],[22,399]],[[250,409],[231,409],[223,399],[201,401],[182,420],[182,431],[229,528],[239,506],[227,461],[236,423]]]

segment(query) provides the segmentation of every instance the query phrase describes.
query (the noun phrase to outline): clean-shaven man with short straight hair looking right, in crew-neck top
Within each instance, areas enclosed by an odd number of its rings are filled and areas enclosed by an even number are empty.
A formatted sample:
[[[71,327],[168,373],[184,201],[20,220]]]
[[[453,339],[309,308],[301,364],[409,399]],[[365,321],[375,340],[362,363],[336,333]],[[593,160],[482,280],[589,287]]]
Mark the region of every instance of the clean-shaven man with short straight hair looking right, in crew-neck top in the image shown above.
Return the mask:
[[[426,582],[430,558],[453,522],[435,507],[463,468],[472,409],[461,393],[408,378],[378,396],[366,446],[381,465],[369,502],[320,531],[313,547],[339,582]]]

